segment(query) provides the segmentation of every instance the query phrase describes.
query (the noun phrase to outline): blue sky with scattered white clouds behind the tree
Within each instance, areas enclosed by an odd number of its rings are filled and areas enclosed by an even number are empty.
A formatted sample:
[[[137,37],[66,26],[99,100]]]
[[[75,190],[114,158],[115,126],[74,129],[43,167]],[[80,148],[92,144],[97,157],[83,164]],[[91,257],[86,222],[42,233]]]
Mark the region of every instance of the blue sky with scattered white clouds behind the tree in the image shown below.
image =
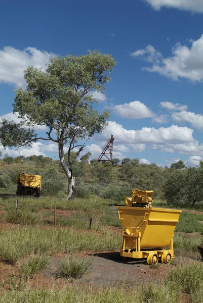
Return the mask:
[[[88,142],[93,158],[114,135],[114,158],[170,165],[203,159],[203,3],[201,0],[10,1],[0,11],[0,116],[12,116],[13,89],[28,65],[55,54],[110,53],[117,65],[96,108],[109,125]],[[6,116],[5,116],[6,115]],[[43,129],[37,129],[37,132]],[[12,156],[57,157],[57,146],[0,149]]]

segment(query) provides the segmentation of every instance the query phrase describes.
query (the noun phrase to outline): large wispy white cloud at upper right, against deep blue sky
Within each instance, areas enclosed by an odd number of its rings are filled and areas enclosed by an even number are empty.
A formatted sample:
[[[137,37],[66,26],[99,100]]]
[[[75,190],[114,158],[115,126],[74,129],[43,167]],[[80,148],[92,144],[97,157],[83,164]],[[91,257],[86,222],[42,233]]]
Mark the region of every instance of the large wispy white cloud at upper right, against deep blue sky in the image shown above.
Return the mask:
[[[203,6],[202,0],[201,3]],[[203,35],[196,41],[190,40],[189,46],[177,43],[172,48],[172,56],[168,58],[164,58],[151,45],[144,49],[139,49],[132,53],[131,56],[148,62],[151,66],[143,68],[143,70],[148,72],[157,72],[176,81],[179,78],[185,78],[193,82],[201,82],[203,80],[202,53]]]

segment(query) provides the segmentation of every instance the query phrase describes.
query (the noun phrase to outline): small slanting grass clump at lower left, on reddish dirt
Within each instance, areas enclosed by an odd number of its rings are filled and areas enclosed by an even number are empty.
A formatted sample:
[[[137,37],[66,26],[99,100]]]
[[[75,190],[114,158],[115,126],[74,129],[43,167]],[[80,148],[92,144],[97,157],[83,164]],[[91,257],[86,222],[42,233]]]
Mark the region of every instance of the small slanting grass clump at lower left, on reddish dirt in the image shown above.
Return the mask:
[[[29,260],[23,261],[22,265],[20,266],[20,278],[33,278],[34,275],[45,270],[49,263],[50,257],[48,255],[30,257]]]

